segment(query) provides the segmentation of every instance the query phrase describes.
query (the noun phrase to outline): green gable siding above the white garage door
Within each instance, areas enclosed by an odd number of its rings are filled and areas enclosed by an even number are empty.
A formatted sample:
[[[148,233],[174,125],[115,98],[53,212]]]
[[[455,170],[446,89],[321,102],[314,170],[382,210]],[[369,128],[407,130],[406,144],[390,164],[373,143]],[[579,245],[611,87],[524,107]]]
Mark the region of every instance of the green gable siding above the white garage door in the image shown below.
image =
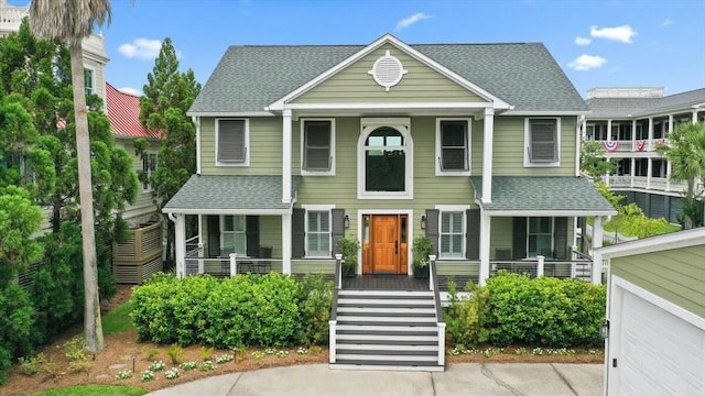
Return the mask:
[[[705,318],[705,244],[616,257],[610,271]]]

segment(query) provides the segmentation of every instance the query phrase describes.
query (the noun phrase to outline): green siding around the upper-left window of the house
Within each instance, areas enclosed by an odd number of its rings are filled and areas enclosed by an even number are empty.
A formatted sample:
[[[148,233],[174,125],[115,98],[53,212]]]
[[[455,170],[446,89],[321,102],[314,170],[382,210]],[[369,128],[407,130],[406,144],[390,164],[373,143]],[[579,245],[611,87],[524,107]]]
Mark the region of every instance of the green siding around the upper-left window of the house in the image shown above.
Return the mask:
[[[281,175],[282,119],[250,118],[249,166],[216,166],[216,130],[214,118],[200,120],[202,175]]]

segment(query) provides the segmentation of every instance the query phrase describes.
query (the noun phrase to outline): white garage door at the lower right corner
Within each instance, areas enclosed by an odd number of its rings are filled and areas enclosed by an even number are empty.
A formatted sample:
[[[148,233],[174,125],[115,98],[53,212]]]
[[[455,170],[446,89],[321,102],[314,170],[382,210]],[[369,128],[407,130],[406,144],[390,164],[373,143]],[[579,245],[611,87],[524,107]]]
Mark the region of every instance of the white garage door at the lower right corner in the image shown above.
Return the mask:
[[[608,394],[705,396],[703,318],[627,282],[611,294]]]

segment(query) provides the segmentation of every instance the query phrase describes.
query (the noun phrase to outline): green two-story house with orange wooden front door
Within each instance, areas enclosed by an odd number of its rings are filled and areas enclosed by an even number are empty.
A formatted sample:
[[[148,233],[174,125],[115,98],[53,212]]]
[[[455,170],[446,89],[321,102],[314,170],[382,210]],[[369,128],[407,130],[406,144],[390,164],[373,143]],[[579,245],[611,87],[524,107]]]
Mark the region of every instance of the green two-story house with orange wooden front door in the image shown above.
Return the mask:
[[[570,260],[576,218],[616,213],[579,177],[588,111],[540,43],[231,46],[189,110],[198,172],[164,208],[177,274],[204,271],[187,250],[262,246],[273,271],[330,272],[346,234],[360,275],[410,274],[422,234],[440,273],[480,284],[496,258]]]

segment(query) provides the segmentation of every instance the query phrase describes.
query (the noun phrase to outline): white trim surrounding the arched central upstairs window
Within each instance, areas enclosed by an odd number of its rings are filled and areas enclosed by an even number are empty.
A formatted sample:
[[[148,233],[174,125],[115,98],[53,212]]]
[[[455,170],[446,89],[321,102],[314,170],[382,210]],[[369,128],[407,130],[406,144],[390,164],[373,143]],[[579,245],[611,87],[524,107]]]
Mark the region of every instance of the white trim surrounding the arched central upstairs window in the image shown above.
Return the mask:
[[[397,130],[404,139],[404,191],[366,191],[366,153],[365,142],[378,128],[389,127]],[[411,119],[409,118],[364,118],[360,119],[360,136],[357,143],[357,199],[413,199],[414,198],[414,143],[411,138]]]

